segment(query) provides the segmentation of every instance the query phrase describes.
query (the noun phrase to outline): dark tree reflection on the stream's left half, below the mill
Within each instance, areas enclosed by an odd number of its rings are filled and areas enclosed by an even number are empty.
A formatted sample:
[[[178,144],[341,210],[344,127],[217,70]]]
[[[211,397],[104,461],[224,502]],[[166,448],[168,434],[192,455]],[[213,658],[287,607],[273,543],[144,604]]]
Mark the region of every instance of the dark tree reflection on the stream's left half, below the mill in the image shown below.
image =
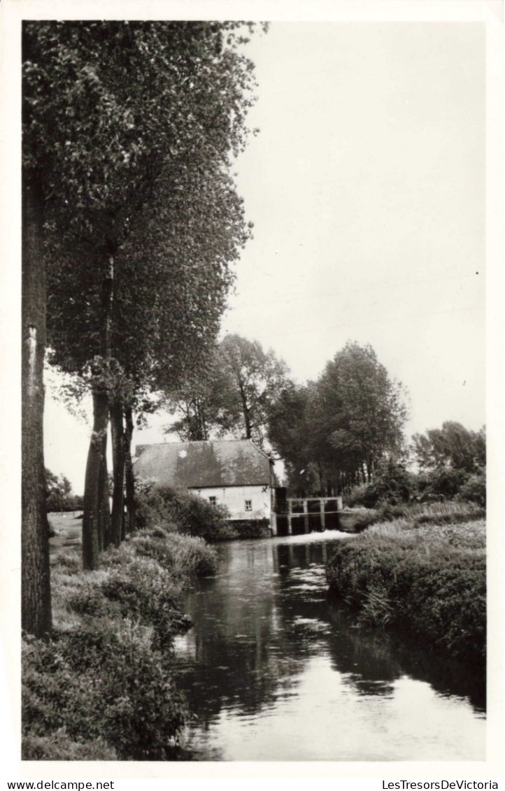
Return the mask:
[[[235,547],[234,547],[235,548]],[[186,608],[196,621],[187,636],[189,661],[180,660],[179,686],[207,728],[223,708],[253,714],[275,701],[300,671],[276,611],[271,546],[230,551],[214,581],[203,581]]]

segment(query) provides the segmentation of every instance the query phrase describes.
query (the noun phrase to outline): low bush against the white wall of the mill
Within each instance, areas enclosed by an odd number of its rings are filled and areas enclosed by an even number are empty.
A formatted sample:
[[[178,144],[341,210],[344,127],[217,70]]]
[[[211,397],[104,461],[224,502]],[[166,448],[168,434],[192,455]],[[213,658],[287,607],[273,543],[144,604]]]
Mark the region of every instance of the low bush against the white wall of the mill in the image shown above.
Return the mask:
[[[195,494],[147,483],[137,486],[136,498],[139,527],[162,527],[207,541],[232,537],[227,509],[211,505]]]

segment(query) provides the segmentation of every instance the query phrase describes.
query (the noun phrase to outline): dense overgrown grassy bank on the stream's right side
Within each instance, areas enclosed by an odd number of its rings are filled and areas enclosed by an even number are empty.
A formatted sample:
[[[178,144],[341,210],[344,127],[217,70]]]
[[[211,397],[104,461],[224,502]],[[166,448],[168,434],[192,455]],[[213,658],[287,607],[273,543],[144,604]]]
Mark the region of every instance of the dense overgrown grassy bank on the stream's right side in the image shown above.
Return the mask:
[[[485,522],[465,505],[416,506],[336,547],[326,573],[360,624],[396,626],[484,664]]]

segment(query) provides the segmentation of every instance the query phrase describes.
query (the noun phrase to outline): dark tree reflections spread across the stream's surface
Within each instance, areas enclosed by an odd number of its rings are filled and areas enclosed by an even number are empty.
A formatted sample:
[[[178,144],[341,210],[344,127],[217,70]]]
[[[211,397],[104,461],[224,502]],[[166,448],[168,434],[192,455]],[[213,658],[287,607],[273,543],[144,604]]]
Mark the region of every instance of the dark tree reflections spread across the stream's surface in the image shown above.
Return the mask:
[[[321,653],[329,653],[332,667],[358,694],[391,696],[393,683],[408,675],[482,707],[479,684],[465,668],[396,634],[355,628],[326,593],[331,546],[248,542],[220,551],[218,577],[188,597],[196,628],[178,660],[180,687],[199,729],[207,730],[223,710],[251,716],[273,706]]]

